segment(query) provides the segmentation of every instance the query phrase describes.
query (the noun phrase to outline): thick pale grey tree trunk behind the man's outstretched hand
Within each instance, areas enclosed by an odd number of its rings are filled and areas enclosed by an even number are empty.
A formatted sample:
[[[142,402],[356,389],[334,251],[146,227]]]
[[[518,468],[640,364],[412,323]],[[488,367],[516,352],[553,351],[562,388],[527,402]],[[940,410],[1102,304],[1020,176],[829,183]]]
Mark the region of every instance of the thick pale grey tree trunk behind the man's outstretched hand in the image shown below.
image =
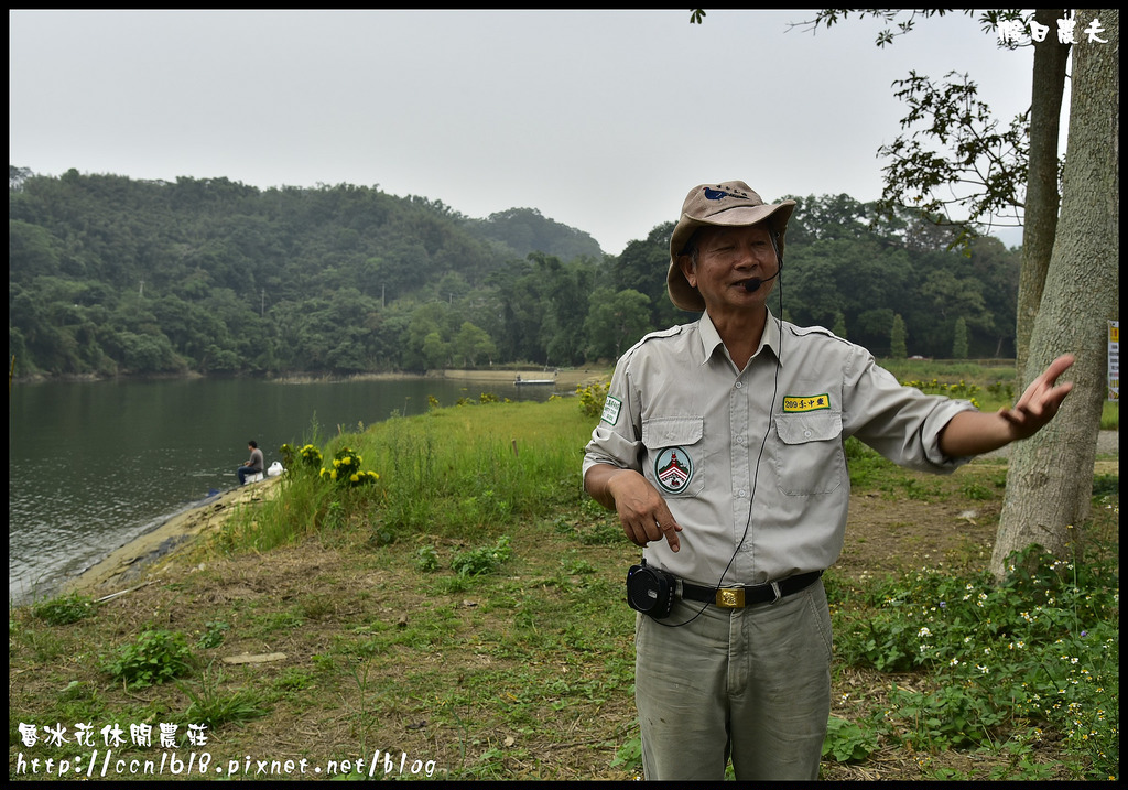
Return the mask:
[[[1107,43],[1083,33],[1094,19]],[[1078,10],[1075,29],[1061,218],[1024,376],[1072,351],[1077,362],[1066,377],[1075,385],[1057,418],[1013,448],[992,556],[996,580],[1007,574],[1008,555],[1032,544],[1076,559],[1070,528],[1089,517],[1108,396],[1108,322],[1119,321],[1119,11]]]

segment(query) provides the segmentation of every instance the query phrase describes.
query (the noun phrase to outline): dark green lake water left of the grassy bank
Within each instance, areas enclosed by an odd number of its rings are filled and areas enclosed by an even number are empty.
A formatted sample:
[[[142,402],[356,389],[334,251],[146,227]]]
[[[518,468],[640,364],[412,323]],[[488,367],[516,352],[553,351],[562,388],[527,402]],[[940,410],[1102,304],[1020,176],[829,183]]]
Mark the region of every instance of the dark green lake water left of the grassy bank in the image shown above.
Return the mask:
[[[255,439],[277,448],[421,414],[484,392],[545,401],[552,386],[415,378],[277,384],[178,379],[19,385],[8,439],[9,603],[50,595],[109,552],[235,488]]]

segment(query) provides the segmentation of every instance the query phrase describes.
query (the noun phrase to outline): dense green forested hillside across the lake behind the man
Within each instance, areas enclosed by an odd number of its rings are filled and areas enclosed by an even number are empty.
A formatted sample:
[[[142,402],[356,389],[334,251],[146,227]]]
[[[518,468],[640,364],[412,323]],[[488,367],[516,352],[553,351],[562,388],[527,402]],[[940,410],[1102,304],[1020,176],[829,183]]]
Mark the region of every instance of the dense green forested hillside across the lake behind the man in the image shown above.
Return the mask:
[[[567,367],[695,317],[664,296],[672,222],[610,256],[534,208],[474,219],[377,186],[9,169],[20,377]],[[1020,262],[997,239],[966,254],[907,212],[796,200],[786,317],[880,356],[1013,354]]]

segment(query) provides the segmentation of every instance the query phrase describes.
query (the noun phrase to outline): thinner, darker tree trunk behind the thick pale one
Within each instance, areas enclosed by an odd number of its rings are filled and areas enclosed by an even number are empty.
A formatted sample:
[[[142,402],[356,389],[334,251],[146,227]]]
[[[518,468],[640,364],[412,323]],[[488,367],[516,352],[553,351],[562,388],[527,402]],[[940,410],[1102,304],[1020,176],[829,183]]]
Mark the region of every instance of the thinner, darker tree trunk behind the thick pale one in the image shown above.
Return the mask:
[[[1038,306],[1042,300],[1046,272],[1054,251],[1058,222],[1058,138],[1061,130],[1061,97],[1069,45],[1057,40],[1057,20],[1063,8],[1040,8],[1034,21],[1049,28],[1046,40],[1034,43],[1033,95],[1030,104],[1030,157],[1026,163],[1026,200],[1023,211],[1022,271],[1019,275],[1015,370],[1019,392],[1023,378]],[[1077,29],[1081,29],[1079,27]]]

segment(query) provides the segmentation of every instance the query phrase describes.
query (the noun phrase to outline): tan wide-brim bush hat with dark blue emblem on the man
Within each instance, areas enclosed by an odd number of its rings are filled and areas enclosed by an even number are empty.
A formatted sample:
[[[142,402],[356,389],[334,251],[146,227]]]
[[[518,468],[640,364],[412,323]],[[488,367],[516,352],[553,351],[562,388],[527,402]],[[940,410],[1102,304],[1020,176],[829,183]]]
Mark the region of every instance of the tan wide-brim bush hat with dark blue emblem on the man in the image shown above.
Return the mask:
[[[666,275],[670,301],[684,310],[697,313],[705,310],[705,300],[700,291],[689,284],[678,265],[678,256],[687,252],[686,246],[698,228],[741,227],[769,220],[779,256],[783,257],[787,222],[794,210],[793,200],[765,203],[742,181],[700,184],[691,188],[681,204],[681,217],[670,236],[670,271]]]

